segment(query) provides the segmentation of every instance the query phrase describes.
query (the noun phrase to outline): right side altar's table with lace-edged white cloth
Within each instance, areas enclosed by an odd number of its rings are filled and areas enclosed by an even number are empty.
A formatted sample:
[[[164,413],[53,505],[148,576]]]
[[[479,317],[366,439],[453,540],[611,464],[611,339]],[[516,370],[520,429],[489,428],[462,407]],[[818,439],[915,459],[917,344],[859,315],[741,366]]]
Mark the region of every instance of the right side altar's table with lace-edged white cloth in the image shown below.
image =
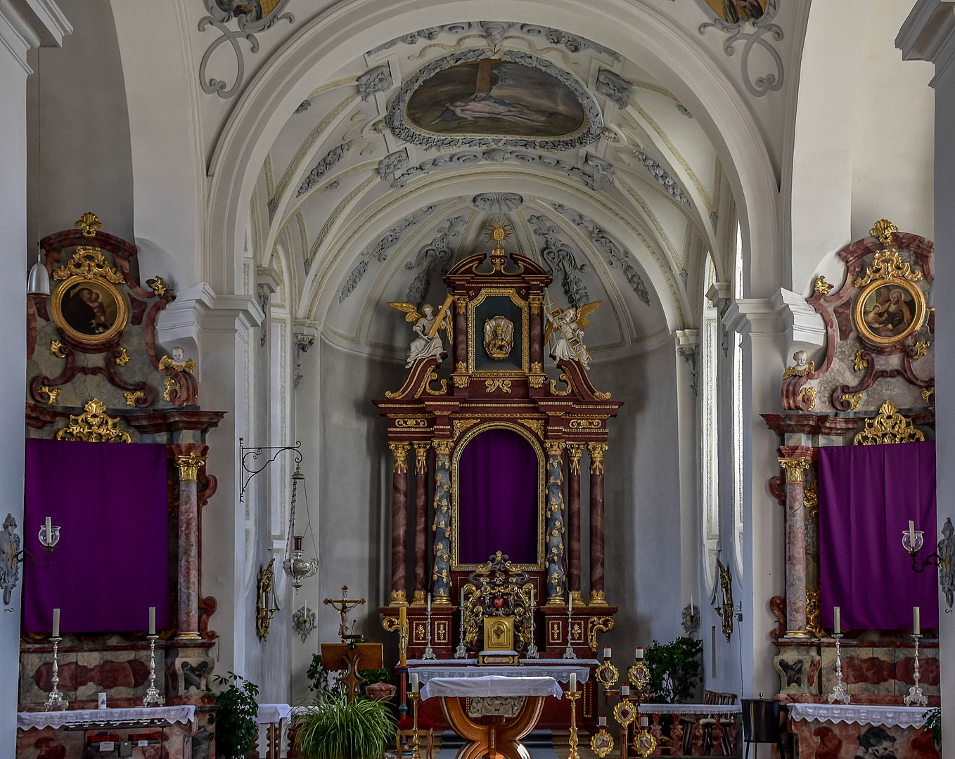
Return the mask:
[[[798,759],[852,759],[893,754],[940,759],[926,727],[925,706],[789,704]]]

